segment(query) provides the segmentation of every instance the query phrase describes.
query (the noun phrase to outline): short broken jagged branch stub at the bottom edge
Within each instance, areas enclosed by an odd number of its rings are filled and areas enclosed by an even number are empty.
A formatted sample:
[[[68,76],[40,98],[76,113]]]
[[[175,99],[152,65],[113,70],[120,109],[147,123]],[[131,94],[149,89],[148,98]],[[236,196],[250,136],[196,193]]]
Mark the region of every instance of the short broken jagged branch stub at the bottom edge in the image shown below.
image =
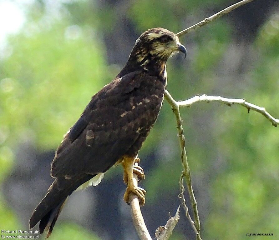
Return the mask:
[[[178,206],[175,216],[170,217],[170,219],[167,221],[165,226],[158,227],[155,232],[155,236],[157,240],[167,240],[170,238],[170,235],[175,228],[178,220],[179,220],[179,209],[180,205]]]

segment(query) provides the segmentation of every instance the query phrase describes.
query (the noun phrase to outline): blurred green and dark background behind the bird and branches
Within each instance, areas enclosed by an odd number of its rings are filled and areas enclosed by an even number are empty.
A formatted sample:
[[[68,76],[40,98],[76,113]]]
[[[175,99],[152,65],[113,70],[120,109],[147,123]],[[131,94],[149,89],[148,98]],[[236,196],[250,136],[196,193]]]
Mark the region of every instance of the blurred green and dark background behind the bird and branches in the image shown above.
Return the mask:
[[[52,182],[50,163],[63,134],[118,74],[142,32],[179,32],[235,2],[0,0],[0,228],[28,229]],[[203,93],[246,98],[278,118],[278,10],[278,0],[255,0],[181,37],[188,56],[168,61],[169,92],[176,100]],[[278,239],[278,129],[236,105],[196,103],[181,115],[201,236],[271,232],[269,239]],[[180,203],[175,124],[164,103],[139,153],[151,234]],[[122,176],[122,168],[110,169],[97,187],[72,194],[49,239],[138,239]],[[171,239],[194,239],[180,215]]]

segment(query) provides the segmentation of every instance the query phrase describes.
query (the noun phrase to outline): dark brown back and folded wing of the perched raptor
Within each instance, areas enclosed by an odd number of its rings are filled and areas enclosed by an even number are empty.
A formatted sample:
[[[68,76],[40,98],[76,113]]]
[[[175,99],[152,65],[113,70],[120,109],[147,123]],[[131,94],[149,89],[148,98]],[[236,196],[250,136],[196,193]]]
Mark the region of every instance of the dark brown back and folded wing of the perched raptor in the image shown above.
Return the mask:
[[[58,147],[52,176],[102,173],[124,154],[136,155],[157,119],[164,92],[163,79],[146,71],[104,86]]]

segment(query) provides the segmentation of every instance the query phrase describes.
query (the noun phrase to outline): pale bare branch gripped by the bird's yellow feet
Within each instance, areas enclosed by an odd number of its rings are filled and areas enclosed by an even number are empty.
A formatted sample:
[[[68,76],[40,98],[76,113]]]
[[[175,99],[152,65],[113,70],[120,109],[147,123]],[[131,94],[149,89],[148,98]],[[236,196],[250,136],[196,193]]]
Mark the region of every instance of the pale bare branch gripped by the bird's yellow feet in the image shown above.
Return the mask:
[[[137,163],[135,163],[135,165],[136,164]],[[133,174],[133,182],[135,186],[138,186],[138,176],[135,173]],[[140,211],[139,198],[135,194],[130,193],[129,200],[131,205],[131,212],[132,212],[134,226],[139,235],[139,239],[152,240]]]

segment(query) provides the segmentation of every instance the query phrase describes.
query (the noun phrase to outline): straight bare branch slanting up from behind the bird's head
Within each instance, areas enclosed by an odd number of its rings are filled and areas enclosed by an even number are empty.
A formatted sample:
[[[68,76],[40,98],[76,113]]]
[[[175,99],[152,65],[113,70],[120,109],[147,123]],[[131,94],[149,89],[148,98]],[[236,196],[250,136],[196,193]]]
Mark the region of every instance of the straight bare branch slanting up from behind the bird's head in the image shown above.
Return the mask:
[[[219,18],[219,17],[221,17],[221,16],[231,12],[232,10],[234,10],[234,9],[236,9],[236,8],[246,4],[248,2],[252,2],[252,1],[254,1],[254,0],[243,0],[243,1],[237,2],[237,3],[233,4],[233,5],[231,5],[230,7],[227,7],[225,9],[223,9],[222,11],[215,13],[211,17],[206,17],[204,20],[196,23],[195,25],[193,25],[191,27],[188,27],[188,28],[182,30],[181,32],[176,33],[176,35],[178,37],[181,37],[182,35],[185,35],[188,32],[191,32],[191,31],[193,31],[193,30],[195,30],[195,29],[197,29],[199,27],[202,27],[205,24],[207,24],[207,23],[209,23],[209,22],[211,22],[213,20],[216,20],[217,18]]]

